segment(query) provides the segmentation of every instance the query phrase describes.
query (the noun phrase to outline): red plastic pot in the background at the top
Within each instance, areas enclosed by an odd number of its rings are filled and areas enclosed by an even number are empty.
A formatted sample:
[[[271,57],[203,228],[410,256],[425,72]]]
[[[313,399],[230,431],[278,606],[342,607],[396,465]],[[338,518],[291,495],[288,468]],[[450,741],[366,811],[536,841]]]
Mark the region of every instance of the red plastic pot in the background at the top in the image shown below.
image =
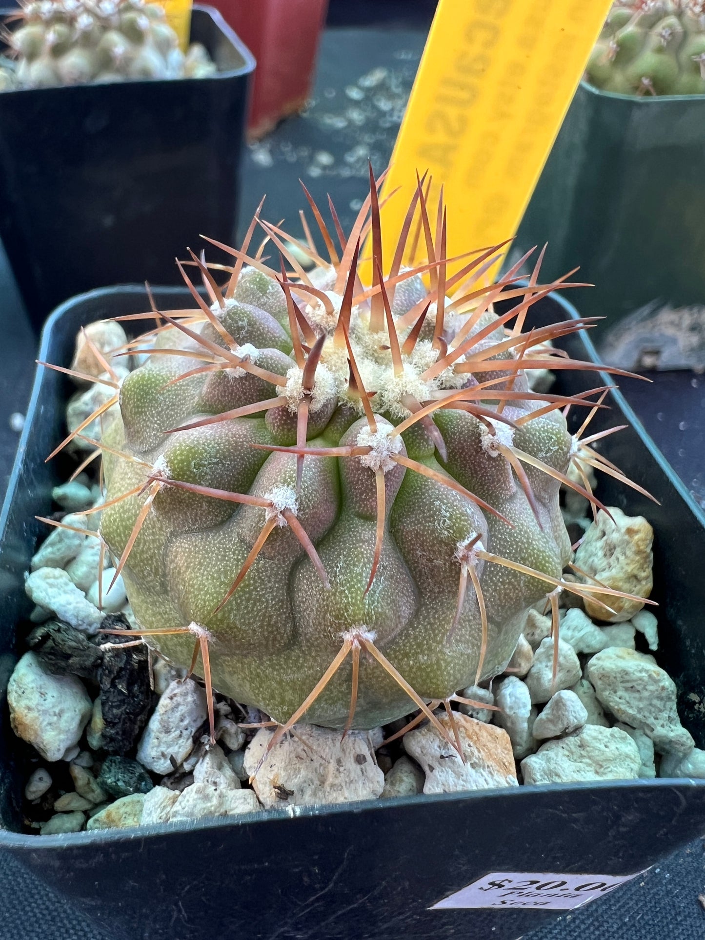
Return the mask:
[[[304,107],[328,0],[212,0],[257,59],[247,135]]]

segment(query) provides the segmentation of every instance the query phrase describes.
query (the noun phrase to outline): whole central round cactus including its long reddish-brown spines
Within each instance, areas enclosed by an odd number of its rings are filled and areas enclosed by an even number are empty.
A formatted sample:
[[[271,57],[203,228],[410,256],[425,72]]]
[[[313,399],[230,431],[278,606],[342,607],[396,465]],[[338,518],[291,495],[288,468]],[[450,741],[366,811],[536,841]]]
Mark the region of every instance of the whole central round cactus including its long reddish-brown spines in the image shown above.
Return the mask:
[[[530,605],[547,598],[557,629],[563,587],[610,593],[563,580],[572,550],[558,505],[564,483],[602,506],[586,471],[619,474],[560,410],[587,406],[587,427],[606,390],[529,390],[525,370],[590,368],[546,345],[586,321],[523,332],[530,306],[572,286],[538,283],[542,253],[528,287],[516,286],[528,255],[487,283],[501,245],[450,274],[442,197],[431,226],[419,183],[383,275],[371,170],[349,236],[332,207],[339,247],[306,196],[330,259],[305,226],[307,273],[259,212],[240,250],[214,243],[234,259],[222,287],[224,266],[192,252],[209,301],[179,264],[194,309],[120,318],[160,324],[125,346],[149,359],[123,380],[86,335],[105,368],[92,381],[114,394],[54,453],[114,415],[99,444],[100,537],[138,634],[192,668],[196,640],[208,690],[280,731],[370,729],[416,706],[446,735],[432,707],[502,671]],[[257,225],[280,270],[262,247],[247,253]],[[419,232],[431,260],[407,269]],[[500,316],[502,290],[516,304]]]

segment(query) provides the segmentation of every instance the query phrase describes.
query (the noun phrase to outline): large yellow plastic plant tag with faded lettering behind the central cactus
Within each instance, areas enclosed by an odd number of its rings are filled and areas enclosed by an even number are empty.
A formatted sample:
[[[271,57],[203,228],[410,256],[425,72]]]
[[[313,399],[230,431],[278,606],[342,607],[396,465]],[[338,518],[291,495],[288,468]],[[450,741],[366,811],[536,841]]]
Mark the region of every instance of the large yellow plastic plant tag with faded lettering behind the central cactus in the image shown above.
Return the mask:
[[[399,187],[382,210],[385,266],[417,170],[433,177],[430,207],[445,187],[448,258],[515,234],[611,6],[439,0],[384,181]]]

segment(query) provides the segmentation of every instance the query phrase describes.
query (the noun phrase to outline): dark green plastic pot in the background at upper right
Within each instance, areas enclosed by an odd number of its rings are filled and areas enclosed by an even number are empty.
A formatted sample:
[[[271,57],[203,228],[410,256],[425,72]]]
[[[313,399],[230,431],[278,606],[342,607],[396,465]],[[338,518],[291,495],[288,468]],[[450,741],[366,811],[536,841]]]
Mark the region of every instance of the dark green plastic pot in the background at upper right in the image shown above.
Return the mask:
[[[541,276],[581,266],[596,287],[574,301],[584,316],[606,318],[592,331],[603,353],[615,325],[652,301],[705,304],[703,218],[705,95],[637,98],[583,82],[512,256],[548,241]],[[660,345],[656,361],[668,352]],[[700,337],[701,357],[703,347]]]

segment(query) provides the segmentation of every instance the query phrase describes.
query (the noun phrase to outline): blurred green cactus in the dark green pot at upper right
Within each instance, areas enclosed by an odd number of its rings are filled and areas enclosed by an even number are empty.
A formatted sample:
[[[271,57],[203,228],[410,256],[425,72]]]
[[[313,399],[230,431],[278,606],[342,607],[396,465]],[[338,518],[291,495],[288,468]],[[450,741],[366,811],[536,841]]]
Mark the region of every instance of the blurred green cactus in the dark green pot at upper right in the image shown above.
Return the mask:
[[[618,0],[590,55],[587,80],[627,95],[705,94],[703,0]]]

